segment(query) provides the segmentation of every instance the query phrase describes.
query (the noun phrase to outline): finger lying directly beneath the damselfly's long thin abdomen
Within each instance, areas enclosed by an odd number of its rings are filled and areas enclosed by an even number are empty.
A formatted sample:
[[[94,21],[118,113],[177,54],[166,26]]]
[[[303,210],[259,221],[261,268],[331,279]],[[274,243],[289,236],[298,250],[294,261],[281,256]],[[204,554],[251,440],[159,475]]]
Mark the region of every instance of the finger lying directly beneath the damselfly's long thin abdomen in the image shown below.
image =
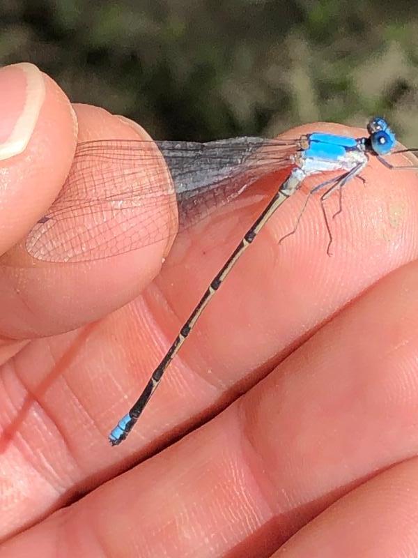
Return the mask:
[[[347,131],[314,125],[291,135],[321,128]],[[361,130],[350,133],[360,135]],[[42,463],[58,472],[60,494],[100,483],[219,411],[348,301],[413,259],[417,177],[391,173],[373,162],[364,177],[366,187],[354,183],[344,193],[343,214],[333,223],[332,258],[325,252],[327,238],[315,203],[297,234],[278,244],[303,200],[286,202],[290,215],[279,211],[237,264],[173,361],[141,423],[118,451],[109,451],[107,432],[137,397],[254,206],[238,200],[240,220],[230,213],[232,220],[214,216],[217,226],[212,229],[196,227],[186,241],[173,246],[158,280],[130,305],[86,328],[32,342],[10,359],[1,371],[2,466],[12,486],[22,477],[31,478],[33,500],[29,508],[26,493],[14,494],[3,532],[59,506],[55,479]],[[309,184],[314,181],[318,177]],[[210,241],[217,240],[217,248],[209,252]],[[38,469],[42,473],[34,481],[33,470]]]

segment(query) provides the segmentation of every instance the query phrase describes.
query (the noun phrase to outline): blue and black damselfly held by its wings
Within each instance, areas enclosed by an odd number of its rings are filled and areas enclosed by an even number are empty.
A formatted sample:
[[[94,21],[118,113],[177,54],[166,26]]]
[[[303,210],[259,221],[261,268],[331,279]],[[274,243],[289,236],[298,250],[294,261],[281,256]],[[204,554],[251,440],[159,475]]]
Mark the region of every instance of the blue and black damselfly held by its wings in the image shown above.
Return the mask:
[[[329,250],[332,236],[323,205],[327,197],[336,190],[341,194],[341,188],[360,176],[371,157],[378,158],[389,169],[417,168],[394,167],[385,160],[389,153],[416,151],[395,151],[396,138],[385,119],[371,119],[367,131],[369,135],[357,139],[318,132],[294,140],[238,137],[203,144],[98,140],[77,146],[59,197],[26,240],[26,249],[34,258],[86,262],[136,250],[169,235],[171,227],[163,219],[167,209],[176,207],[180,227],[187,227],[240,195],[261,177],[280,169],[287,172],[286,180],[210,282],[137,402],[111,431],[111,445],[120,444],[127,437],[173,356],[235,262],[307,176],[340,171],[308,194],[309,197],[322,192],[320,202],[330,239]],[[139,212],[141,229],[136,226]]]

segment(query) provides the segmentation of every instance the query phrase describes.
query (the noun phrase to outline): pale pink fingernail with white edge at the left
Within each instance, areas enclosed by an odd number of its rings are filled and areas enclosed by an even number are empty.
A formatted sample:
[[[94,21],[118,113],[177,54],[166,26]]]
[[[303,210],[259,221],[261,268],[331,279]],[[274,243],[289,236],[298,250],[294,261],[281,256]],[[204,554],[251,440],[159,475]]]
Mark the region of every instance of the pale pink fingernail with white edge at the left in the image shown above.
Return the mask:
[[[0,160],[25,149],[45,99],[40,70],[30,63],[0,68]]]

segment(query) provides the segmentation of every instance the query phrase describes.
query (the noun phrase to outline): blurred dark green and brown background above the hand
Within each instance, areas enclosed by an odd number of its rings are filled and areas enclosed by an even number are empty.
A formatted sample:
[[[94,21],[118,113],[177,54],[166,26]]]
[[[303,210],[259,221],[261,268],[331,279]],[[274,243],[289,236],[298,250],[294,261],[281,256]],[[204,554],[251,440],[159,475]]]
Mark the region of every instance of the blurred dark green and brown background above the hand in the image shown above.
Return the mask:
[[[418,144],[417,2],[1,0],[0,63],[159,139],[387,116]]]

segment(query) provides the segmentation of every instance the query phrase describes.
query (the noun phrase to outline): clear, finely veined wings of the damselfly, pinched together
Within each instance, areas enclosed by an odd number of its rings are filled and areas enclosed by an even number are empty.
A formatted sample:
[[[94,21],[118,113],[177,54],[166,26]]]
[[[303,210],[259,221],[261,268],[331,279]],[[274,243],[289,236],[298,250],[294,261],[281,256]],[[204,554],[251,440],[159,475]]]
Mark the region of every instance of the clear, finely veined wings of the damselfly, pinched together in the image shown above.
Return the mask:
[[[68,178],[26,239],[47,262],[86,262],[147,246],[206,218],[265,174],[288,167],[296,141],[98,140],[77,146]]]

